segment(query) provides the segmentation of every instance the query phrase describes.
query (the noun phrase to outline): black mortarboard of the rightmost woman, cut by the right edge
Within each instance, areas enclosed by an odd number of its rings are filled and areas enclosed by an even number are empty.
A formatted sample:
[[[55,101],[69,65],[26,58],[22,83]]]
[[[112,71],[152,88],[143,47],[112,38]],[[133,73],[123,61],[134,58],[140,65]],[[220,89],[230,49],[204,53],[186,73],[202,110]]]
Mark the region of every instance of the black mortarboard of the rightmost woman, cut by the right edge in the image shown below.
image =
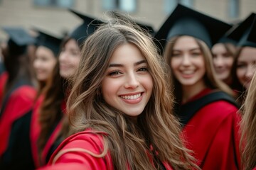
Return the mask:
[[[256,13],[251,13],[229,33],[228,38],[238,41],[240,47],[256,47]]]

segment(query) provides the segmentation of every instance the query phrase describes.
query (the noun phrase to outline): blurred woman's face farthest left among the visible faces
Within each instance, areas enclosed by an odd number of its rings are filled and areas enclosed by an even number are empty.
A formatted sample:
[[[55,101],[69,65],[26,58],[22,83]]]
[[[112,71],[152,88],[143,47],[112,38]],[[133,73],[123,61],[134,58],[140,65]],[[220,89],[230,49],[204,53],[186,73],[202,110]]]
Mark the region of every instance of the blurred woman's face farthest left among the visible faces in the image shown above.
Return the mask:
[[[36,49],[33,67],[36,71],[38,81],[46,81],[52,74],[57,58],[48,47],[39,46]]]

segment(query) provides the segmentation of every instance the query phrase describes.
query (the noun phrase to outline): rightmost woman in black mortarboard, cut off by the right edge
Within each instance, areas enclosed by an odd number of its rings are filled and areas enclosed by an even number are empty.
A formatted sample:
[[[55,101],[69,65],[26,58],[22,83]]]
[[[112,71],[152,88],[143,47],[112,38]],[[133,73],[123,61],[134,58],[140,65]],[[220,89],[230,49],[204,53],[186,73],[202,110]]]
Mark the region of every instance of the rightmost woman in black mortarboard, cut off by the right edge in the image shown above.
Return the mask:
[[[238,101],[242,103],[246,89],[250,86],[256,71],[256,13],[251,13],[233,31],[228,38],[238,41],[238,52],[235,56],[231,74],[233,89],[238,93]]]

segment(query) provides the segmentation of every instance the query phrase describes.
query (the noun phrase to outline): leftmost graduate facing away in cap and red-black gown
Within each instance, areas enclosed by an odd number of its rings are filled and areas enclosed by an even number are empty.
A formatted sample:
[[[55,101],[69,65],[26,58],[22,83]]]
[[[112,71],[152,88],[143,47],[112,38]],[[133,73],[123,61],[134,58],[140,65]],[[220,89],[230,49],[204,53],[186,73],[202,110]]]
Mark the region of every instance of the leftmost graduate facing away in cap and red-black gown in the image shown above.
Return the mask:
[[[22,28],[4,28],[9,35],[3,50],[7,73],[0,103],[0,169],[33,169],[29,140],[35,79],[27,45],[34,39]]]

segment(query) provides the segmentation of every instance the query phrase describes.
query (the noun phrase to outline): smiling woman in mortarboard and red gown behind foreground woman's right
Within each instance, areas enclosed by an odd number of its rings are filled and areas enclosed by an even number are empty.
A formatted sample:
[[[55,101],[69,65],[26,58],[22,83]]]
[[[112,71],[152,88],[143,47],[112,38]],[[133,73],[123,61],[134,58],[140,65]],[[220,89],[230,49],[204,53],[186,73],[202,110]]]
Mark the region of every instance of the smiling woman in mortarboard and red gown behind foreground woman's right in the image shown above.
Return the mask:
[[[240,168],[238,106],[233,91],[214,74],[210,52],[229,28],[178,4],[155,36],[165,47],[164,58],[174,82],[170,90],[174,90],[186,147],[206,170]]]

